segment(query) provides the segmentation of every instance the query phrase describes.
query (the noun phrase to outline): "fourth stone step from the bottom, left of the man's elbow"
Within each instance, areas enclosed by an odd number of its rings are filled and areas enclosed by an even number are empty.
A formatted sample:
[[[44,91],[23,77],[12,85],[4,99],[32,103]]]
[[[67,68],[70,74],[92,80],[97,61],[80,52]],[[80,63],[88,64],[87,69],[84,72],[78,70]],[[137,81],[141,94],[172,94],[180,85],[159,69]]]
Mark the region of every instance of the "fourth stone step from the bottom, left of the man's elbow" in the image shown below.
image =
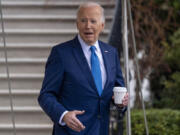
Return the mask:
[[[12,89],[40,89],[43,74],[10,74]],[[7,89],[7,75],[0,74],[0,89]]]

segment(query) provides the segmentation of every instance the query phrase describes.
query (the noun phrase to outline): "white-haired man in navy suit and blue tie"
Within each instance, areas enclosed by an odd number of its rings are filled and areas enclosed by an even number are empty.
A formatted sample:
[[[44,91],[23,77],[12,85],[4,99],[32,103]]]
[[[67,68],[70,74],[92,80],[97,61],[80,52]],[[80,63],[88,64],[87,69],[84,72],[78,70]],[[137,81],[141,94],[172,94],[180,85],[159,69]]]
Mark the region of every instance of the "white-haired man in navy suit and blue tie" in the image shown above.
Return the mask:
[[[105,24],[99,4],[80,5],[76,24],[78,35],[51,50],[38,101],[53,135],[108,135],[112,90],[124,86],[118,53],[98,40]],[[128,94],[118,106],[127,104]]]

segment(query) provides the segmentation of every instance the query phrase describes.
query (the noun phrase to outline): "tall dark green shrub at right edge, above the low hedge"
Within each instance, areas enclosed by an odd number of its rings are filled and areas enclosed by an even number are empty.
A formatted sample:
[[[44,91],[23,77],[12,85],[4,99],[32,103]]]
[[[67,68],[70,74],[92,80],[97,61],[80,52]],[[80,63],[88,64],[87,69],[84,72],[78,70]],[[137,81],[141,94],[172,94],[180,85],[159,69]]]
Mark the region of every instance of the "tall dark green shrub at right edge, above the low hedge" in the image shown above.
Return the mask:
[[[164,47],[164,64],[150,76],[152,106],[180,109],[180,28]]]

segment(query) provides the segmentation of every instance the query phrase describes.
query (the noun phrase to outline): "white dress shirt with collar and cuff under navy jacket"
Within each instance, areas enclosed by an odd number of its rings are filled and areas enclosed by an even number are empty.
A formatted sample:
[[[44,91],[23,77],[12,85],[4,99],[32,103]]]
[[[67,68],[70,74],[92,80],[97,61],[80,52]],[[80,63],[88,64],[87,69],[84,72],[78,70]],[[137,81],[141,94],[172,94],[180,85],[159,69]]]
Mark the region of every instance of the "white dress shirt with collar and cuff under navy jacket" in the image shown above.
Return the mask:
[[[83,53],[84,53],[84,55],[86,57],[87,63],[89,65],[89,68],[91,69],[91,50],[90,50],[91,46],[86,44],[83,41],[83,39],[80,37],[79,34],[78,34],[78,40],[80,42],[81,48],[83,50]],[[99,47],[99,42],[96,41],[94,46],[96,47],[95,53],[98,56],[98,59],[99,59],[99,62],[100,62],[101,77],[102,77],[102,89],[104,89],[104,85],[106,83],[106,69],[105,69],[105,66],[104,66],[104,60],[103,60],[103,56],[102,56],[102,53],[101,53],[101,49]],[[63,119],[64,115],[67,112],[68,111],[63,112],[63,114],[60,117],[59,124],[62,125],[62,126],[65,125],[65,123],[62,122],[62,119]]]

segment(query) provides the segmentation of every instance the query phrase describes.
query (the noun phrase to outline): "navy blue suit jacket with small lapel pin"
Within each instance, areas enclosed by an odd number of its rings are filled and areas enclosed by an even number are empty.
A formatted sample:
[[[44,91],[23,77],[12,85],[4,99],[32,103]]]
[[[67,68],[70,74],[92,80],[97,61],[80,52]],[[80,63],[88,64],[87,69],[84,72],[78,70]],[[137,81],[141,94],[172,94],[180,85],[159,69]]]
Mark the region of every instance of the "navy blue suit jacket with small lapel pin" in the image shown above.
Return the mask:
[[[77,36],[52,48],[38,101],[54,122],[53,135],[108,135],[109,108],[114,86],[124,86],[118,53],[99,41],[107,81],[99,96]],[[59,124],[64,111],[85,110],[77,118],[85,130],[76,132]]]

